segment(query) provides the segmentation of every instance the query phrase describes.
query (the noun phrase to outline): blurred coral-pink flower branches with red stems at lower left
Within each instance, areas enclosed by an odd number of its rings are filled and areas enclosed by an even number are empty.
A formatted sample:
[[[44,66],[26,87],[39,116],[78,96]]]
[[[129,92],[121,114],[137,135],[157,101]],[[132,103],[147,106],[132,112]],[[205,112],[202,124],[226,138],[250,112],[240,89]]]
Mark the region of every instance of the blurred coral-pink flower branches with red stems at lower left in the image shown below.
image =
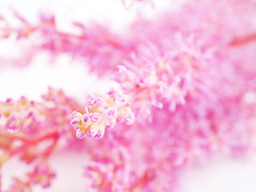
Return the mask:
[[[54,173],[46,166],[48,158],[61,139],[74,139],[69,114],[79,105],[66,97],[62,90],[52,88],[42,98],[42,102],[30,101],[26,97],[0,102],[0,167],[14,156],[30,165],[43,161],[28,174],[27,179],[15,178],[8,191],[31,190],[34,184],[50,186]]]

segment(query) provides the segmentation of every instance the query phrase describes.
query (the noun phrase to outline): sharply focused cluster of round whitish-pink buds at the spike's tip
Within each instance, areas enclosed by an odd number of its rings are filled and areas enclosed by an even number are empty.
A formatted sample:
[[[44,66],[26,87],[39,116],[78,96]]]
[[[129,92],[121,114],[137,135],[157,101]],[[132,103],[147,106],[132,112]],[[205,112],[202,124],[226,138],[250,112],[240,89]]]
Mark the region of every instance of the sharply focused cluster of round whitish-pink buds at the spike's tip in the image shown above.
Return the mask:
[[[99,139],[103,137],[105,130],[112,129],[117,122],[126,122],[127,125],[134,122],[129,102],[114,90],[110,90],[106,99],[91,96],[86,113],[74,111],[70,117],[71,125],[77,130],[76,135],[80,139],[86,135]]]

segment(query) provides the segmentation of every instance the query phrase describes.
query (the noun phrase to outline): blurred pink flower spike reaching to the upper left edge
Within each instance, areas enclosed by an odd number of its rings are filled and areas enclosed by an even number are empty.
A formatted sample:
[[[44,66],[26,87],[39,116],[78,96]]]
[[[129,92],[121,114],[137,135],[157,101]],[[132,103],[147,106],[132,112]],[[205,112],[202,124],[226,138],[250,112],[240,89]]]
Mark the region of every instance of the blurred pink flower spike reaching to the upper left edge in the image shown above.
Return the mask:
[[[78,29],[78,34],[69,34],[58,30],[54,15],[40,13],[37,24],[30,23],[17,11],[14,11],[14,16],[22,23],[21,27],[10,26],[4,17],[0,18],[0,23],[4,23],[4,34],[0,39],[14,35],[17,41],[27,42],[27,51],[23,50],[25,53],[22,53],[21,58],[0,58],[0,61],[14,66],[26,66],[39,51],[48,50],[53,58],[67,53],[83,62],[90,62],[90,70],[98,69],[96,66],[100,65],[97,73],[102,74],[114,70],[127,57],[126,52],[133,49],[130,42],[114,34],[106,26],[73,22],[70,25]],[[36,42],[34,36],[38,37]]]

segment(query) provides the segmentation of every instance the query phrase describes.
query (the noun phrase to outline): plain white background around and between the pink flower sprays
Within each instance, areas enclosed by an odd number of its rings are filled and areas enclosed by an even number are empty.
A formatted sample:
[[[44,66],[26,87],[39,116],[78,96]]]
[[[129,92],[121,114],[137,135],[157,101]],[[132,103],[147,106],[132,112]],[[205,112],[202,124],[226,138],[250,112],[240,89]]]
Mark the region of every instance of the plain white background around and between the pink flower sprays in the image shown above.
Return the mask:
[[[164,7],[165,1],[160,4],[159,10]],[[152,9],[151,6],[146,6],[146,8],[145,6],[136,6],[133,10],[127,11],[123,9],[119,0],[1,0],[0,13],[8,14],[10,6],[15,7],[32,20],[38,10],[53,12],[57,15],[58,27],[62,30],[69,30],[68,23],[74,18],[85,22],[88,19],[104,21],[121,32],[124,29],[122,26],[134,18],[137,9],[143,9],[149,15],[154,15],[158,10]],[[18,50],[15,50],[14,44],[0,42],[1,55],[14,54],[15,51]],[[70,58],[68,57],[58,58],[57,64],[51,67],[46,62],[47,59],[42,55],[36,58],[33,65],[26,69],[0,69],[0,100],[10,96],[18,98],[23,94],[33,99],[39,99],[40,95],[46,92],[47,86],[53,86],[54,88],[62,88],[67,94],[82,101],[88,92],[104,92],[111,84],[111,82],[98,80],[86,72],[79,63],[70,65]],[[86,178],[82,178],[84,161],[86,158],[82,153],[77,156],[77,154],[64,154],[59,151],[52,159],[52,162],[57,165],[58,178],[54,181],[53,186],[45,191],[88,191],[84,188]],[[66,169],[63,169],[63,166]],[[14,159],[4,169],[8,174],[13,172],[18,174],[20,169],[18,161]],[[69,180],[69,178],[73,179]],[[4,182],[10,181],[10,178],[5,178]],[[62,184],[63,181],[66,183],[65,186]],[[37,188],[36,191],[41,190]],[[237,160],[219,157],[206,165],[186,170],[182,174],[179,191],[255,192],[256,155],[251,154]]]

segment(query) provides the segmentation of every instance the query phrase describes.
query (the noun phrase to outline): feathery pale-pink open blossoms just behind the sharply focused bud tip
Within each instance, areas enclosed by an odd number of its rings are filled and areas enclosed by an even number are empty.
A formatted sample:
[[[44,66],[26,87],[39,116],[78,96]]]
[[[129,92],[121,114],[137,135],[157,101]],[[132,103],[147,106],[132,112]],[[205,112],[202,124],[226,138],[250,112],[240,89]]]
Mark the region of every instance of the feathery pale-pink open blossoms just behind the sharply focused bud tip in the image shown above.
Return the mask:
[[[186,95],[192,90],[193,78],[199,72],[194,67],[202,67],[206,61],[199,57],[202,53],[196,47],[192,52],[185,43],[182,43],[180,50],[179,46],[175,50],[165,47],[168,50],[165,55],[159,53],[154,44],[141,46],[137,55],[132,55],[131,61],[118,66],[115,80],[124,93],[135,98],[134,107],[147,110],[150,114],[151,106],[162,109],[163,102],[168,103],[172,111],[176,106],[185,104]]]

